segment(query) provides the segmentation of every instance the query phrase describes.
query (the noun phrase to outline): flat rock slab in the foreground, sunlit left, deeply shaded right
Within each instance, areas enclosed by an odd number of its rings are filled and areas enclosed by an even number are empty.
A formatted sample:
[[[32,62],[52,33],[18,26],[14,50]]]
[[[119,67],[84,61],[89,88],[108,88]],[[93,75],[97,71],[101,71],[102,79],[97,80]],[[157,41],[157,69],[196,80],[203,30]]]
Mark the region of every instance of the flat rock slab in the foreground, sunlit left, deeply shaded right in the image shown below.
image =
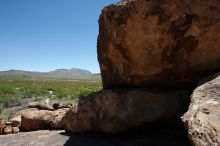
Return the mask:
[[[40,130],[0,136],[1,146],[190,146],[184,128],[154,126],[121,134]]]

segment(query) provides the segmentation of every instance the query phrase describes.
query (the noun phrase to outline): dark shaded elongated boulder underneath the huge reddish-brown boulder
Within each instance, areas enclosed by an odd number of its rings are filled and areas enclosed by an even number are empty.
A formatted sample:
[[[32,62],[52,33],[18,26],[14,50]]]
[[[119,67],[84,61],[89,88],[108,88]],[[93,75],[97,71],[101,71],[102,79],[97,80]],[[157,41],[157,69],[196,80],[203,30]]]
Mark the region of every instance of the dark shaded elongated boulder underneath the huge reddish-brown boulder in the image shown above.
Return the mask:
[[[117,133],[151,122],[176,119],[183,113],[187,99],[186,91],[104,90],[70,108],[62,124],[72,132]]]

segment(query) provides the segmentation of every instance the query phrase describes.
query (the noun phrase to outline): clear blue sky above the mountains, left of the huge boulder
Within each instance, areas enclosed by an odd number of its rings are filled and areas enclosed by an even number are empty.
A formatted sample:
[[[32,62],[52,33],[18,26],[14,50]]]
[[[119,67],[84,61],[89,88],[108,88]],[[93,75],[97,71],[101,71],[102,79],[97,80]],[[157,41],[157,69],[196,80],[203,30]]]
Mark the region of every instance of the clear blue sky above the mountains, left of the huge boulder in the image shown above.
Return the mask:
[[[100,72],[98,17],[118,0],[0,0],[0,71]]]

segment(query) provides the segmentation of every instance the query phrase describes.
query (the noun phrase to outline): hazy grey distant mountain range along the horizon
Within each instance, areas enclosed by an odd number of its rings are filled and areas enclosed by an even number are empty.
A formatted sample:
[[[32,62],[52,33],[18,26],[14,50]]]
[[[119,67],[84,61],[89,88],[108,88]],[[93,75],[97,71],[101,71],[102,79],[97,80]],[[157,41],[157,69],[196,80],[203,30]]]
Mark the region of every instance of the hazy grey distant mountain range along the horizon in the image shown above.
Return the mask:
[[[27,79],[100,79],[100,74],[92,74],[83,69],[57,69],[50,72],[31,72],[23,70],[0,71],[1,78]]]

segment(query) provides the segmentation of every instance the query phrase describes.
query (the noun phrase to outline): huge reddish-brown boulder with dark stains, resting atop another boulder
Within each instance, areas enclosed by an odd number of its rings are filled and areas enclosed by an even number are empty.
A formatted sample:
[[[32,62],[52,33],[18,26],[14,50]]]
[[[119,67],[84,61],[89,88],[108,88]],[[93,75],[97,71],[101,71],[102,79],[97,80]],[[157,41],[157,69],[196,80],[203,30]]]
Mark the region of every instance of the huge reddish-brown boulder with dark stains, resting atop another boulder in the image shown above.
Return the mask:
[[[99,19],[104,88],[194,87],[220,68],[219,0],[127,0]]]

